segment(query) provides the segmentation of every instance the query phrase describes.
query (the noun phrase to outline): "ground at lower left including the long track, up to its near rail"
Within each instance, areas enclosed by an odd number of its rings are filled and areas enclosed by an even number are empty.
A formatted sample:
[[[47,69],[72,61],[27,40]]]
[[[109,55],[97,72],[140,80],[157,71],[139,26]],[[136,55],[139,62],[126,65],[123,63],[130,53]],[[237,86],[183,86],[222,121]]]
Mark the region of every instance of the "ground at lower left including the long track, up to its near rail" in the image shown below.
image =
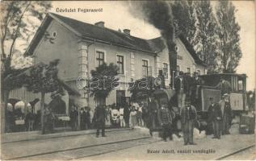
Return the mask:
[[[16,136],[18,135],[16,134]],[[114,149],[120,149],[154,141],[154,139],[147,140],[147,138],[151,138],[149,131],[141,129],[108,129],[106,135],[107,137],[100,135],[99,138],[96,138],[94,130],[48,135],[40,135],[35,132],[35,134],[31,134],[33,139],[24,139],[24,136],[21,135],[18,137],[19,139],[2,142],[1,159],[74,159],[79,154],[84,156],[79,151],[86,151],[86,155],[99,155],[106,151],[112,151],[113,145],[115,145]],[[140,141],[142,141],[141,144],[139,144]],[[122,147],[117,147],[119,145]],[[107,146],[108,148],[100,149]]]

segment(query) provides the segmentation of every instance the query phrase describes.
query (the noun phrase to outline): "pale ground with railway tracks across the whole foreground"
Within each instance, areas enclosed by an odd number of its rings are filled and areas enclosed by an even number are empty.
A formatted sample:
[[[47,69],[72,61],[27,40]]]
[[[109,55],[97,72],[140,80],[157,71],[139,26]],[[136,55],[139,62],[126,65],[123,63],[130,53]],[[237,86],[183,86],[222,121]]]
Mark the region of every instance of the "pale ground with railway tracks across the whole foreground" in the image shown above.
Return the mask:
[[[183,139],[163,142],[160,138],[150,137],[149,130],[145,128],[111,130],[106,133],[106,138],[95,138],[94,133],[77,132],[78,134],[74,133],[76,135],[64,137],[56,135],[40,139],[20,139],[2,142],[2,159],[212,160],[233,158],[237,151],[242,151],[241,154],[247,157],[243,159],[251,159],[255,156],[251,152],[255,148],[255,134],[239,134],[237,128],[237,124],[233,125],[231,134],[221,136],[221,139],[212,139],[212,135],[195,139],[195,146],[183,146]]]

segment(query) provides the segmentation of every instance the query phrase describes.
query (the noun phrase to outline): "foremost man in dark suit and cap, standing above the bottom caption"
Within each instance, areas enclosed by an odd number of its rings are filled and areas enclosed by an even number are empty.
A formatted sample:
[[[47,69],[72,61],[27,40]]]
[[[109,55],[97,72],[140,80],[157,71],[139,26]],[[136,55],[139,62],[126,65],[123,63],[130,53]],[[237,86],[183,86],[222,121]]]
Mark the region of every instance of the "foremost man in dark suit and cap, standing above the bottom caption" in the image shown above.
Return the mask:
[[[191,105],[189,97],[186,98],[185,107],[181,111],[184,145],[196,145],[193,142],[194,122],[197,118],[196,109]]]

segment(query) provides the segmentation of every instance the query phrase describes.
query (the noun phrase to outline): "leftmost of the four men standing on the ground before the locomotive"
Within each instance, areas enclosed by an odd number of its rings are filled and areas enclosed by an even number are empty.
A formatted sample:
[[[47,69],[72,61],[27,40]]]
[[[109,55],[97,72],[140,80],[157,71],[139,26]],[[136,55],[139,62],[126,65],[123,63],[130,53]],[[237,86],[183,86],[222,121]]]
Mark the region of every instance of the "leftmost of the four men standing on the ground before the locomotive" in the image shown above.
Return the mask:
[[[170,109],[167,108],[166,103],[163,103],[162,107],[158,109],[157,118],[162,127],[162,138],[166,142],[166,138],[170,136],[170,127],[173,119],[170,114]]]

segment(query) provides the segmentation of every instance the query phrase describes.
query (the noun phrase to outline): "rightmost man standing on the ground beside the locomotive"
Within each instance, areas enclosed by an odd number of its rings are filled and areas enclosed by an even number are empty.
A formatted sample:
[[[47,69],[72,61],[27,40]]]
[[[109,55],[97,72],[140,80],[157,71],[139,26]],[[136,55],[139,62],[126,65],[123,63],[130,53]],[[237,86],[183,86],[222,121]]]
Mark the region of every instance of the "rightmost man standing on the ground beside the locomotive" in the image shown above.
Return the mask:
[[[229,95],[224,95],[220,101],[220,109],[222,114],[222,134],[230,134],[229,129],[232,122],[232,109],[229,102]]]

